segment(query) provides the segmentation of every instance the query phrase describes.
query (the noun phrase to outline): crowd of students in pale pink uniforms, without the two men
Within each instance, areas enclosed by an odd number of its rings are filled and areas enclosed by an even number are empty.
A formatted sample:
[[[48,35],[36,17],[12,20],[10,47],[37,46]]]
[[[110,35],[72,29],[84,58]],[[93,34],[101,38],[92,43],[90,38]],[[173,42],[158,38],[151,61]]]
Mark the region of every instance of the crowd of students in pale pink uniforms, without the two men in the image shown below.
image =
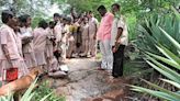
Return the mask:
[[[41,20],[33,30],[29,14],[16,16],[11,10],[1,13],[0,77],[7,71],[26,75],[34,67],[44,71],[59,70],[59,65],[71,57],[94,57],[98,20],[91,11],[78,16],[54,14],[54,21]]]

